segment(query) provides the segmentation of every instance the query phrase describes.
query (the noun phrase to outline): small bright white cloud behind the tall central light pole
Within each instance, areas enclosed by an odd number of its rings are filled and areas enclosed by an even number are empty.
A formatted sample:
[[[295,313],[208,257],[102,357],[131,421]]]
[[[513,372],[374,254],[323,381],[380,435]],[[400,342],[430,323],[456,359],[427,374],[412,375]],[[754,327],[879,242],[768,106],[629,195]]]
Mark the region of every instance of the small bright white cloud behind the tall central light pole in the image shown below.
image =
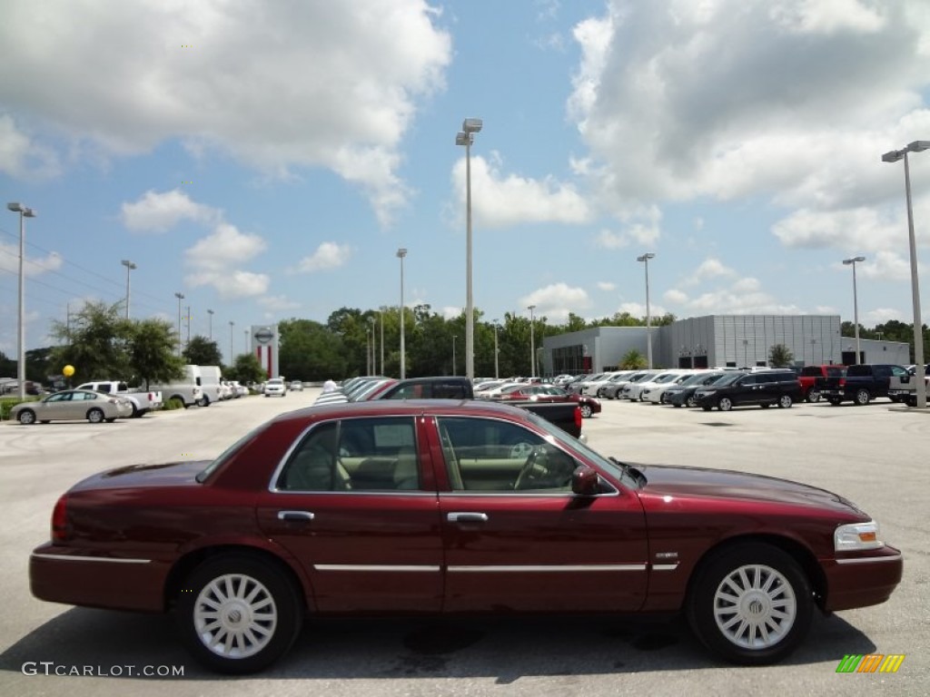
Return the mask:
[[[498,162],[497,153],[494,160]],[[452,169],[457,212],[464,215],[466,194],[465,158]],[[553,178],[542,180],[504,176],[498,164],[472,156],[472,216],[485,228],[519,223],[582,223],[591,219],[591,208],[574,185]]]

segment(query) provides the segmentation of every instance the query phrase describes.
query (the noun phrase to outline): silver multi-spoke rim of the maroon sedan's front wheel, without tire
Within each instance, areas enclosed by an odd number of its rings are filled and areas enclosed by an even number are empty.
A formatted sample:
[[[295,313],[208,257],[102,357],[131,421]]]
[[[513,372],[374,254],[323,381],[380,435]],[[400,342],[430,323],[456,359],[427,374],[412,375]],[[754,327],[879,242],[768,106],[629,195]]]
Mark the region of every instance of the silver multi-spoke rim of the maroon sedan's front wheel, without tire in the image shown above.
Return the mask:
[[[750,564],[729,573],[713,597],[720,633],[742,649],[775,646],[790,632],[797,598],[789,580],[770,566]]]

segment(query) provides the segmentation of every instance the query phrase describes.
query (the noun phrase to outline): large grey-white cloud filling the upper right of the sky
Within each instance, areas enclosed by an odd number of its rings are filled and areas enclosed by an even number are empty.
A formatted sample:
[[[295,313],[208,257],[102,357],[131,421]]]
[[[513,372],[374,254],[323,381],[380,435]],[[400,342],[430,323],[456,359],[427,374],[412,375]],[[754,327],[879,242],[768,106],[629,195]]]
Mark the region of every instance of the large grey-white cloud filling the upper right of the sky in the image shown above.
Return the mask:
[[[576,171],[617,211],[699,197],[822,212],[899,199],[879,155],[930,132],[925,7],[608,0],[574,32],[568,112],[590,149]]]

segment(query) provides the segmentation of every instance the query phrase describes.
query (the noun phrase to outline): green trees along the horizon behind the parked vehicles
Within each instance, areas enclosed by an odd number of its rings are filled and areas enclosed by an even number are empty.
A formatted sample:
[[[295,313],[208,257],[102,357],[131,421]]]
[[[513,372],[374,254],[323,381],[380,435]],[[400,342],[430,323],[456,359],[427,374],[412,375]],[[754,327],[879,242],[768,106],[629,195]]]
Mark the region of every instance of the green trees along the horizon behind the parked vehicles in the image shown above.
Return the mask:
[[[94,379],[120,379],[133,385],[169,382],[183,375],[183,365],[220,365],[223,375],[240,382],[265,379],[258,359],[251,353],[235,356],[224,365],[218,343],[195,335],[178,353],[178,334],[166,320],[128,320],[120,303],[87,303],[71,322],[54,322],[51,335],[56,345],[26,353],[26,377],[46,384],[72,365],[73,384]],[[654,326],[674,322],[671,313],[654,317]],[[598,326],[644,326],[645,318],[618,312],[612,317],[586,321],[570,313],[561,324],[540,315],[528,317],[505,313],[502,322],[488,322],[475,311],[475,375],[495,375],[495,342],[498,375],[530,374],[530,335],[541,352],[546,336],[577,332]],[[400,374],[401,313],[397,307],[379,309],[340,308],[326,323],[292,318],[278,322],[278,365],[287,379],[321,381],[375,373]],[[867,339],[900,341],[911,345],[912,325],[892,320],[868,329],[859,328]],[[852,322],[843,322],[842,334],[852,336]],[[465,374],[465,313],[445,318],[429,305],[405,308],[405,372],[408,376]],[[927,330],[923,327],[924,355]],[[383,341],[382,337],[383,336]],[[372,363],[372,353],[374,363]],[[382,362],[383,355],[383,362]],[[635,362],[638,356],[624,357]],[[781,357],[779,357],[781,358]],[[537,362],[541,365],[541,362]],[[16,362],[0,353],[0,376],[15,376]]]

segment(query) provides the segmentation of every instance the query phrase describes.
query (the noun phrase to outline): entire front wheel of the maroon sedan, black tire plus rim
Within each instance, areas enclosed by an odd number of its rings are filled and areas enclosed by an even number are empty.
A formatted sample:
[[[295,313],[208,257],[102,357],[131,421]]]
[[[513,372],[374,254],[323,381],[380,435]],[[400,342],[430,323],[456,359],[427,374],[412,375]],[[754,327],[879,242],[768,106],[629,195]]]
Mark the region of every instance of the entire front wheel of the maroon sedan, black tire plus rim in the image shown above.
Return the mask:
[[[687,599],[697,638],[724,660],[743,665],[773,664],[788,656],[804,639],[813,614],[801,566],[764,543],[731,546],[707,559]]]

